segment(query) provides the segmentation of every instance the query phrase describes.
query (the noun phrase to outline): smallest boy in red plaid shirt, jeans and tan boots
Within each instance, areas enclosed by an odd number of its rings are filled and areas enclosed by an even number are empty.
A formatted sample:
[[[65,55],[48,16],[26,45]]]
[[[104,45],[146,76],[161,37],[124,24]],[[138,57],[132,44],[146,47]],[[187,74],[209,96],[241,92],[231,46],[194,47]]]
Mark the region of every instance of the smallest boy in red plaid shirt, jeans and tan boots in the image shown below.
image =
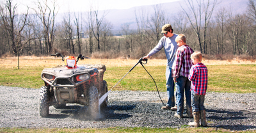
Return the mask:
[[[203,127],[207,126],[205,119],[205,107],[204,99],[207,90],[208,81],[208,70],[202,61],[201,52],[194,52],[191,54],[191,59],[193,61],[193,66],[189,71],[189,81],[191,81],[191,97],[192,97],[192,108],[194,122],[189,122],[188,125],[199,127],[199,113],[201,116],[201,125]]]

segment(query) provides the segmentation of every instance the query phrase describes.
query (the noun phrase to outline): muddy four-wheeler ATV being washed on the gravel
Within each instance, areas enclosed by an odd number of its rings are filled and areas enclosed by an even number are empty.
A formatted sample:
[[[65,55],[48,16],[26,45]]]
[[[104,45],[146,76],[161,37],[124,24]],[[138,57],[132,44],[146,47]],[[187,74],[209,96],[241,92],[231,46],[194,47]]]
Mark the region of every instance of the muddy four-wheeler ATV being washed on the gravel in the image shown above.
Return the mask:
[[[103,80],[105,65],[77,65],[79,59],[88,59],[81,54],[77,59],[74,56],[64,58],[58,52],[51,56],[61,56],[65,66],[45,68],[42,71],[41,79],[45,86],[40,88],[40,116],[49,115],[49,106],[60,109],[74,103],[87,106],[89,113],[93,114],[106,109],[108,97],[99,106],[99,98],[108,92],[108,84]]]

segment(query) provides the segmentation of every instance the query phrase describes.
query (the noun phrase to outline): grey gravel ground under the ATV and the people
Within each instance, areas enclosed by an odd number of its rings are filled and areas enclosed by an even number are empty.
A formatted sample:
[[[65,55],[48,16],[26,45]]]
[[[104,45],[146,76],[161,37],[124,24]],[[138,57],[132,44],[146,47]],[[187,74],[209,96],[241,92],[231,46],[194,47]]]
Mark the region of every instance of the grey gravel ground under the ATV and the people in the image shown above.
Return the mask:
[[[166,93],[160,93],[166,100]],[[207,93],[206,118],[209,127],[230,130],[256,129],[256,93]],[[193,118],[174,118],[175,111],[161,110],[157,92],[111,91],[106,111],[98,120],[82,114],[79,104],[64,109],[50,107],[48,118],[39,116],[39,90],[0,86],[0,127],[26,128],[183,128]],[[186,104],[185,104],[186,105]],[[86,108],[85,108],[86,109]],[[186,109],[186,108],[185,108]],[[186,113],[186,110],[184,110]]]

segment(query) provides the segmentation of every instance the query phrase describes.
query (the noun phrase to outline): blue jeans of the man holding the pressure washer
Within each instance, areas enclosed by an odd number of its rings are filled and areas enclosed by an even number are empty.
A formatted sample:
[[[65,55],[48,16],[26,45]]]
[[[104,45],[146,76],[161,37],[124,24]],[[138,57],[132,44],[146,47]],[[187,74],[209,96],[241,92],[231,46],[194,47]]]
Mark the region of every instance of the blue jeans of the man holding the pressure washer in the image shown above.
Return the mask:
[[[167,106],[168,107],[173,107],[175,105],[175,98],[174,98],[174,82],[172,78],[172,67],[166,67],[166,88],[167,88],[167,97],[168,97],[168,102]]]

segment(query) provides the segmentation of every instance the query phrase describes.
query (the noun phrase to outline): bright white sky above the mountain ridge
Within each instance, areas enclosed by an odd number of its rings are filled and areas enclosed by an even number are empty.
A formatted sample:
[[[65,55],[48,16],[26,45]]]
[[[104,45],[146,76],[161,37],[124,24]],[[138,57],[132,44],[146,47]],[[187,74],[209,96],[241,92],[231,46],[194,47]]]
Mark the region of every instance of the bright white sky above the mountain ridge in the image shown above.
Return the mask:
[[[16,0],[20,6],[36,8],[35,2],[38,0]],[[42,0],[39,0],[42,1]],[[45,0],[44,0],[45,1]],[[51,0],[47,0],[51,1]],[[129,9],[136,6],[145,6],[160,3],[171,3],[179,0],[56,0],[59,5],[59,12],[86,12],[90,9],[90,5],[98,10],[109,9]],[[33,7],[34,6],[34,7]]]

